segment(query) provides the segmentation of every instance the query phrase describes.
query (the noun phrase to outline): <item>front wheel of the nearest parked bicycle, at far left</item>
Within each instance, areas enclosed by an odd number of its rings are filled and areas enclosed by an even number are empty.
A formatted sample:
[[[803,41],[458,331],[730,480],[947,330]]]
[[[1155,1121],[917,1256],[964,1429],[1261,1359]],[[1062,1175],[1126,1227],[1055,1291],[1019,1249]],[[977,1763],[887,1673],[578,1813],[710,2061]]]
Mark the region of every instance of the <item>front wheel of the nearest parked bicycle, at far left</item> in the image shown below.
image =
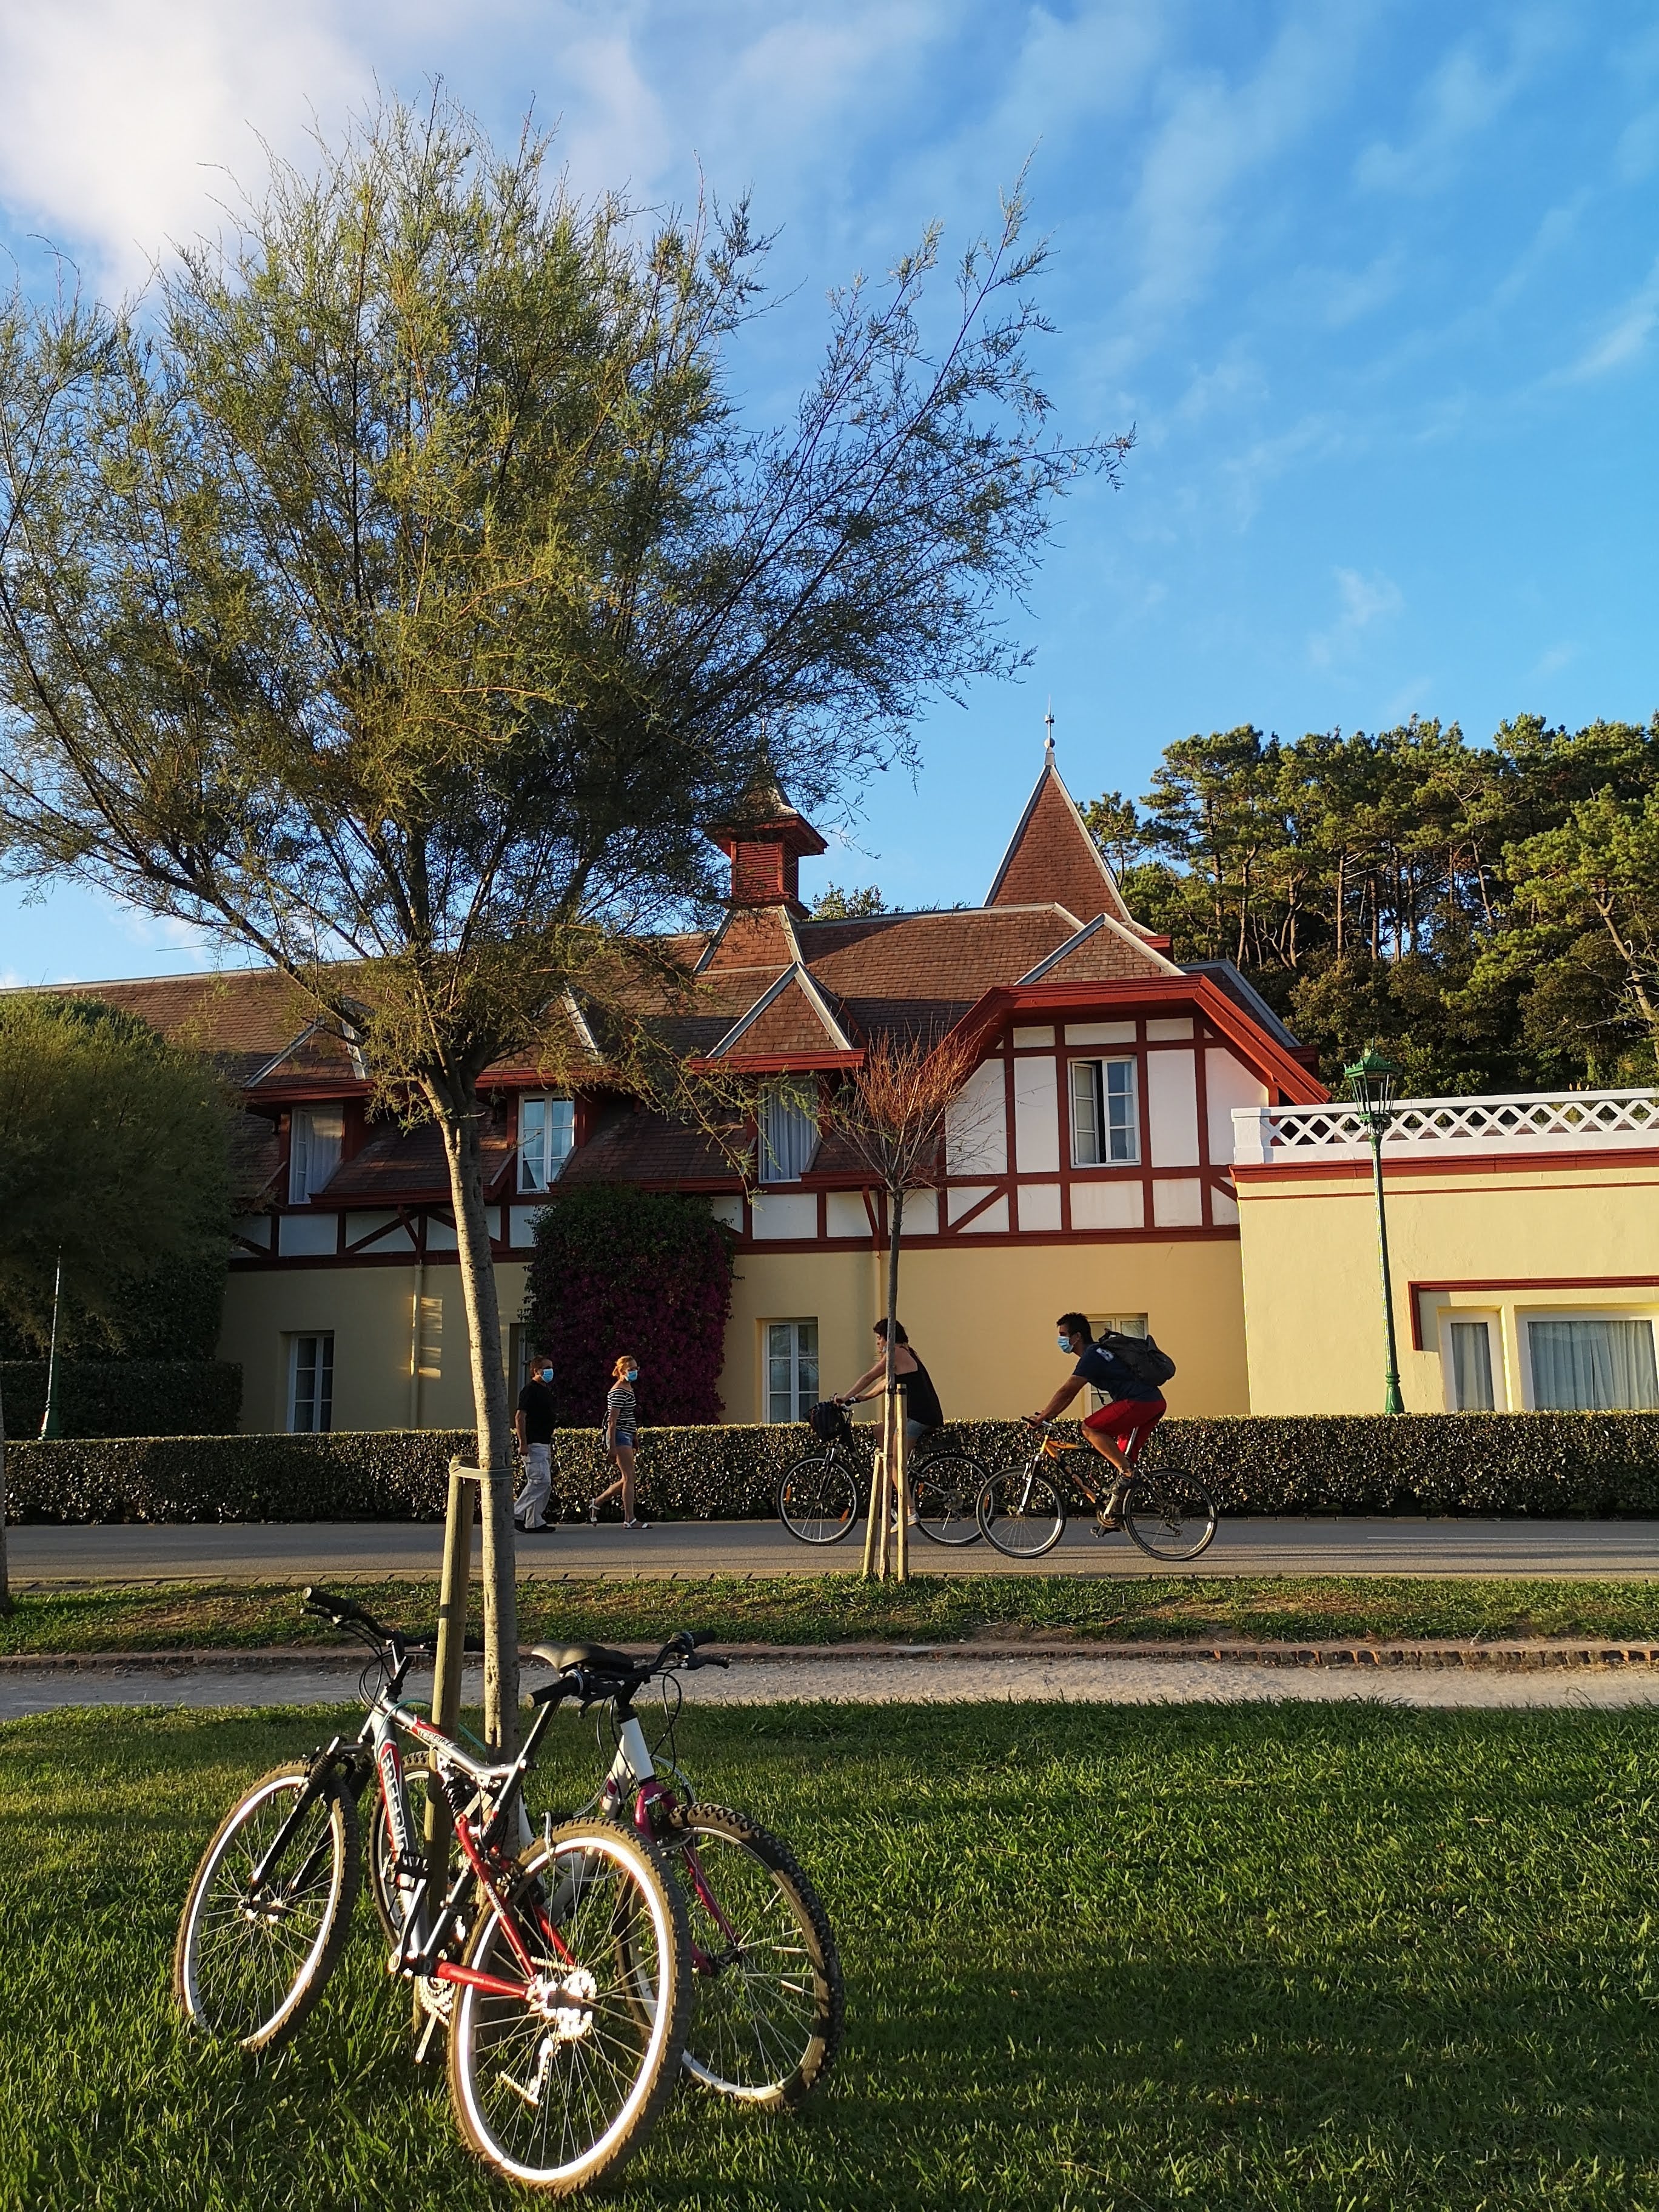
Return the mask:
[[[305,1796],[310,1767],[274,1767],[230,1807],[201,1854],[173,1949],[173,1995],[192,2028],[274,2051],[299,2028],[352,1929],[361,1878],[356,1798],[336,1778],[254,1889],[261,1858]]]

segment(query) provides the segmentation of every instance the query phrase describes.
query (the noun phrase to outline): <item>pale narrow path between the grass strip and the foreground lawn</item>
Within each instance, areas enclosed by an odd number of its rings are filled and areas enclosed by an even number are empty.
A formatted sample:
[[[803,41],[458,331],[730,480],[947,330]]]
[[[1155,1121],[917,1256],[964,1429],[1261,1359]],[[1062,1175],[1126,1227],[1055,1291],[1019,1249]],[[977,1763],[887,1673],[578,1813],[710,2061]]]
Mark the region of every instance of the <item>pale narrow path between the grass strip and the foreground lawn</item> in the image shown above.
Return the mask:
[[[358,1666],[285,1668],[4,1668],[0,1721],[69,1705],[327,1705],[354,1703]],[[429,1681],[411,1681],[425,1694]],[[473,1677],[465,1692],[478,1703]],[[1367,1703],[1458,1710],[1599,1712],[1659,1705],[1659,1668],[1272,1668],[1214,1659],[922,1657],[922,1659],[745,1659],[730,1672],[686,1681],[697,1705],[772,1705],[796,1699],[836,1705],[953,1705],[1046,1699],[1108,1705]]]

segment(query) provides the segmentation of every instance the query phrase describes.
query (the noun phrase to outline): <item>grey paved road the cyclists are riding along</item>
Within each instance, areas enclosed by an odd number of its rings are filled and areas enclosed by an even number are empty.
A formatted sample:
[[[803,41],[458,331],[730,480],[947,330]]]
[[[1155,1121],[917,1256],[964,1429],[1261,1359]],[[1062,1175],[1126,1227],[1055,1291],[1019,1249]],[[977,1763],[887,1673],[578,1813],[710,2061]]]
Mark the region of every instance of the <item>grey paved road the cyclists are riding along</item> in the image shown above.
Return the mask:
[[[11,1528],[20,1588],[53,1582],[305,1582],[434,1575],[442,1531],[427,1522],[257,1522],[192,1528]],[[476,1557],[476,1553],[473,1553]],[[1159,1575],[1128,1537],[1084,1524],[1046,1559],[1015,1564],[989,1544],[911,1546],[918,1573]],[[825,1548],[776,1522],[568,1526],[524,1537],[520,1575],[814,1575],[858,1566],[858,1537]],[[1637,1575],[1659,1577],[1659,1522],[1237,1520],[1197,1562],[1206,1575]]]

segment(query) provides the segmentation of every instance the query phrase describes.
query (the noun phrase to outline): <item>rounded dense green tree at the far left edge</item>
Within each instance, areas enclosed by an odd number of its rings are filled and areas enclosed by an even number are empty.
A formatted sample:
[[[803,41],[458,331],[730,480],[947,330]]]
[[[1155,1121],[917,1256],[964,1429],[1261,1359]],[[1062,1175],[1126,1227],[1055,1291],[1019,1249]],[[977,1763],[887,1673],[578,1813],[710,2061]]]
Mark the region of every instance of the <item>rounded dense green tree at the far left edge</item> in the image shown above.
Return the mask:
[[[62,1281],[122,1343],[164,1263],[223,1276],[230,1108],[195,1053],[93,998],[0,998],[0,1314],[44,1340]],[[139,1318],[142,1325],[142,1318]],[[7,1460],[0,1407],[0,1610]]]

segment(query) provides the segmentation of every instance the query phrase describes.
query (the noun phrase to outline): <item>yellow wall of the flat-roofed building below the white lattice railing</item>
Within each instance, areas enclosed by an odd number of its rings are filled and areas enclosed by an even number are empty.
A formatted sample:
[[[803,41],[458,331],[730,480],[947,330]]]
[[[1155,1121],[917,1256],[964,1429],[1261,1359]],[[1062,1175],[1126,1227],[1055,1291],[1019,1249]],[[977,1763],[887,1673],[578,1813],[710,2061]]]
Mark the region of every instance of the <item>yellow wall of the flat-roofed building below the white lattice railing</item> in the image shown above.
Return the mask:
[[[1513,1166],[1467,1175],[1387,1175],[1394,1325],[1407,1411],[1449,1402],[1438,1310],[1489,1312],[1502,1343],[1498,1402],[1526,1405],[1526,1314],[1659,1312],[1655,1287],[1544,1287],[1551,1276],[1659,1274],[1659,1168]],[[1383,1290],[1376,1201],[1360,1181],[1241,1181],[1243,1314],[1254,1413],[1383,1409]],[[1411,1283],[1524,1279],[1537,1287],[1425,1298],[1425,1349],[1411,1349]],[[1495,1363],[1498,1365],[1498,1363]]]

